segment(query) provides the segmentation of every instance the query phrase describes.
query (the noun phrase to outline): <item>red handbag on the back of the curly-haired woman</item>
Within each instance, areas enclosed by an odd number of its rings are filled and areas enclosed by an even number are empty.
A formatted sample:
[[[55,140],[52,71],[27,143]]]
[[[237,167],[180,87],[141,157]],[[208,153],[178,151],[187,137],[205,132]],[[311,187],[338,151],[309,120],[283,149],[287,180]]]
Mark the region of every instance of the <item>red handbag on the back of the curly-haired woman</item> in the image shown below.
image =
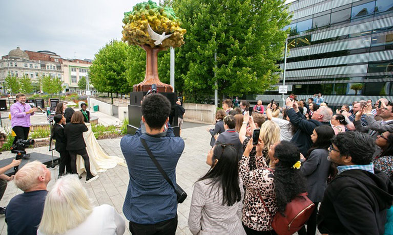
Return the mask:
[[[268,168],[266,168],[266,170],[273,172],[273,170]],[[266,212],[270,215],[270,218],[273,218],[273,221],[270,221],[270,224],[278,235],[292,235],[299,231],[307,222],[315,208],[315,204],[308,199],[307,195],[307,193],[299,194],[298,197],[292,199],[292,201],[286,204],[284,212],[285,216],[282,216],[281,213],[278,212],[273,217],[263,201],[262,196],[258,192],[258,196],[261,199]]]

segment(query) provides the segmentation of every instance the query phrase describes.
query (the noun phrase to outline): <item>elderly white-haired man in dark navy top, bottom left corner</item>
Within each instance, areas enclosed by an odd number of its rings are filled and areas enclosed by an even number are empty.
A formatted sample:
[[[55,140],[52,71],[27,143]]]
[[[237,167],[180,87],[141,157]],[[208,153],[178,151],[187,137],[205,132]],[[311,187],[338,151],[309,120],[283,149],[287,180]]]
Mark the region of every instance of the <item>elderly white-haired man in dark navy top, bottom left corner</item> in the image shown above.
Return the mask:
[[[15,174],[15,185],[24,193],[13,197],[6,208],[8,234],[37,234],[50,180],[51,172],[39,161],[27,163]]]

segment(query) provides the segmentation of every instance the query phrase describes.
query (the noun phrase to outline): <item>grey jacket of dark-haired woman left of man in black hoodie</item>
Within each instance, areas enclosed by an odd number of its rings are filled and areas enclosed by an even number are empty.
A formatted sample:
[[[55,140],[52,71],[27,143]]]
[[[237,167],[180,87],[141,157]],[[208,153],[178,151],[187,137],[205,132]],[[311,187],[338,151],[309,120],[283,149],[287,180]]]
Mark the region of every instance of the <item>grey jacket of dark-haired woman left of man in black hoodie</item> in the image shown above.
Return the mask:
[[[307,179],[307,197],[312,202],[321,202],[327,187],[330,168],[327,155],[327,149],[314,149],[300,168]]]

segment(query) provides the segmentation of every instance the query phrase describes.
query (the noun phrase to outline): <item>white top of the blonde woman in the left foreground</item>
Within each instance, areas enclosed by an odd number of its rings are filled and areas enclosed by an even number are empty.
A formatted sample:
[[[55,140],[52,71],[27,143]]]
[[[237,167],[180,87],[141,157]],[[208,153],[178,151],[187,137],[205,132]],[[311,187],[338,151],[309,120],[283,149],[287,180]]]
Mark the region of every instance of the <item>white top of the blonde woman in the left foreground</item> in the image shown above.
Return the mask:
[[[117,214],[110,205],[100,205],[93,208],[93,212],[84,222],[68,230],[64,235],[121,235],[126,230],[124,219]],[[37,235],[45,235],[37,230]]]

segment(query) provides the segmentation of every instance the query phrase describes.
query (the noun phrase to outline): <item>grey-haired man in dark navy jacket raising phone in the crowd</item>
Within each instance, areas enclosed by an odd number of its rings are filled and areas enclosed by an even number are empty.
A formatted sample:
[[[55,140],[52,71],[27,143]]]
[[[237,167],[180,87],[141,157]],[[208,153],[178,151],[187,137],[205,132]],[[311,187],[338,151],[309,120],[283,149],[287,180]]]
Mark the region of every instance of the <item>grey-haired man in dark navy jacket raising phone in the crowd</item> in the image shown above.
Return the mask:
[[[327,106],[321,106],[314,111],[311,119],[307,120],[300,113],[297,102],[287,98],[286,114],[289,117],[289,121],[298,128],[291,142],[299,148],[304,156],[307,156],[307,151],[312,145],[311,134],[318,126],[330,125],[329,121],[332,119],[333,111]]]

